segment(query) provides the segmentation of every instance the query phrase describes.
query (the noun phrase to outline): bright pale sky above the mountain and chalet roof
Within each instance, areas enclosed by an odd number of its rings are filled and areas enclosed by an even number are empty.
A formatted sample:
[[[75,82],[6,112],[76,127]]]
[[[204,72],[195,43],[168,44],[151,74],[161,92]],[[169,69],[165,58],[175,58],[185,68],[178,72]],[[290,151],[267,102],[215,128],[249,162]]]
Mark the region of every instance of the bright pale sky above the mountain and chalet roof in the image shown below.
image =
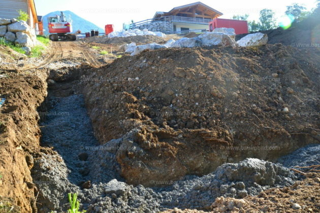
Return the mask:
[[[153,17],[156,11],[168,12],[174,7],[195,3],[197,0],[35,0],[37,14],[44,16],[53,11],[70,10],[78,16],[104,29],[106,24],[114,24],[116,30],[122,29],[123,23],[143,21]],[[219,18],[232,18],[233,15],[249,14],[248,20],[259,20],[262,9],[272,9],[276,18],[280,18],[286,6],[293,3],[304,4],[307,10],[315,8],[315,0],[228,0],[208,1],[203,4],[223,13]]]

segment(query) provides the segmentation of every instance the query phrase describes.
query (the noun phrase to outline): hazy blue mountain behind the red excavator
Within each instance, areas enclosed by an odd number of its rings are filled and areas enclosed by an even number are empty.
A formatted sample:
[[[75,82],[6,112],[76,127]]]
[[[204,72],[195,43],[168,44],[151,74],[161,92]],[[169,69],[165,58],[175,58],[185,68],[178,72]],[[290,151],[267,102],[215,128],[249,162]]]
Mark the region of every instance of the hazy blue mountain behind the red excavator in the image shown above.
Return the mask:
[[[63,11],[65,14],[66,18],[69,19],[71,17],[72,19],[72,26],[73,26],[73,33],[75,33],[78,29],[81,30],[82,33],[85,32],[90,32],[91,29],[99,30],[99,32],[104,32],[105,30],[100,28],[99,26],[91,23],[90,21],[85,20],[84,18],[81,18],[80,16],[76,15],[75,13],[67,10]],[[60,15],[60,11],[55,11],[48,13],[47,15],[42,17],[42,22],[43,22],[43,29],[45,29],[44,33],[48,34],[48,17]]]

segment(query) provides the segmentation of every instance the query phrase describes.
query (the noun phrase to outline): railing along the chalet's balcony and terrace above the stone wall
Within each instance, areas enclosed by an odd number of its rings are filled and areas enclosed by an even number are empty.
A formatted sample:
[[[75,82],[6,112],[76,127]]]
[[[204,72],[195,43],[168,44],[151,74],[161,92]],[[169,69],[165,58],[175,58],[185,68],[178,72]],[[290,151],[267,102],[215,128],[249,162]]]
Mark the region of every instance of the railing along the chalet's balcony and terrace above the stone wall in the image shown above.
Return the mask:
[[[157,21],[172,21],[172,22],[183,22],[183,23],[192,23],[192,24],[206,24],[208,25],[211,19],[206,18],[190,18],[190,17],[182,17],[182,16],[163,16],[160,18],[146,19],[143,21],[139,21],[136,23],[130,24],[130,29],[136,28],[143,24],[149,24],[151,22]]]

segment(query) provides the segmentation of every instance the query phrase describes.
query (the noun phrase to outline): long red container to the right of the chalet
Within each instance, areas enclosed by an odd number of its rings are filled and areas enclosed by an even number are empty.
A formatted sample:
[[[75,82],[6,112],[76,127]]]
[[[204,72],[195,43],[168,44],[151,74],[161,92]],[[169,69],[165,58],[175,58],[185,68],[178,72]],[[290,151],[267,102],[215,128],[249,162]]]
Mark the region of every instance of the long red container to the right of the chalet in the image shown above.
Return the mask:
[[[234,28],[236,34],[248,33],[247,21],[216,18],[209,22],[210,32],[220,27]]]

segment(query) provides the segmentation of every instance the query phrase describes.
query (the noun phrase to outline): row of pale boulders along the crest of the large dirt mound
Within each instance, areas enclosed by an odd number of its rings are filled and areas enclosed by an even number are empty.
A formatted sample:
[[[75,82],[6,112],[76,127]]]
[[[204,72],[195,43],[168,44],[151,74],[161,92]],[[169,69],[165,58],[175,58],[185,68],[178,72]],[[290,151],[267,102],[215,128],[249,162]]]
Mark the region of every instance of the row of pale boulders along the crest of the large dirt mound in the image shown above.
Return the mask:
[[[235,41],[235,30],[233,28],[216,28],[212,32],[205,32],[194,38],[181,38],[177,41],[171,39],[164,45],[157,43],[145,44],[136,46],[135,43],[125,44],[120,47],[120,50],[131,53],[131,55],[137,55],[143,50],[156,50],[161,48],[170,47],[210,47],[216,46],[231,46],[231,47],[251,47],[264,45],[268,42],[268,36],[261,32],[248,34],[246,37],[239,41]]]

